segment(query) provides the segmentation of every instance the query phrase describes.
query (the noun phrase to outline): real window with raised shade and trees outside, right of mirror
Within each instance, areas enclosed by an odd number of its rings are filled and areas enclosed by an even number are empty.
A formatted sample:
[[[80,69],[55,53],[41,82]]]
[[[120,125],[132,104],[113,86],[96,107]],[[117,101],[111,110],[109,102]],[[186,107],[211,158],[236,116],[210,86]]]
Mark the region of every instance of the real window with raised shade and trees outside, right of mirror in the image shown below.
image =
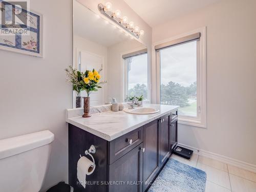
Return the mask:
[[[204,30],[155,46],[158,99],[179,105],[179,123],[206,127]]]

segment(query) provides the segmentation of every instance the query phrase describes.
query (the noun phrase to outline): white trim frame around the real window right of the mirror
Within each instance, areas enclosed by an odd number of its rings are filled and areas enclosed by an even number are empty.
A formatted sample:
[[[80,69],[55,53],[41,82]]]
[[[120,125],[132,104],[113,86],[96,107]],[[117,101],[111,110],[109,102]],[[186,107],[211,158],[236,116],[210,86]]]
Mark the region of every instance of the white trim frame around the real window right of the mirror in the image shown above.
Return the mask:
[[[154,45],[163,44],[164,42],[176,40],[188,35],[192,35],[195,33],[200,33],[200,41],[198,41],[197,46],[199,54],[198,62],[197,62],[197,117],[189,117],[189,116],[179,116],[178,123],[205,127],[207,126],[206,120],[206,27],[190,31],[188,33],[175,36],[172,38],[165,39],[161,42],[157,42]],[[160,54],[159,51],[156,51],[156,67],[157,67],[157,81],[156,81],[156,92],[157,92],[157,103],[160,103],[160,83],[161,83],[161,63],[160,63]]]

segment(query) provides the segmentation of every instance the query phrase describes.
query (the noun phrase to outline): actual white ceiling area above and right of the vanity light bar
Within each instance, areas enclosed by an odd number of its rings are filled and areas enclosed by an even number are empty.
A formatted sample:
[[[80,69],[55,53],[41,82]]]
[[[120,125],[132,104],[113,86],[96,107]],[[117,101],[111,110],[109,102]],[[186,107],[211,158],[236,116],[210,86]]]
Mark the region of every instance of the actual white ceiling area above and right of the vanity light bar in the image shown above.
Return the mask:
[[[220,1],[223,0],[124,0],[151,27]]]

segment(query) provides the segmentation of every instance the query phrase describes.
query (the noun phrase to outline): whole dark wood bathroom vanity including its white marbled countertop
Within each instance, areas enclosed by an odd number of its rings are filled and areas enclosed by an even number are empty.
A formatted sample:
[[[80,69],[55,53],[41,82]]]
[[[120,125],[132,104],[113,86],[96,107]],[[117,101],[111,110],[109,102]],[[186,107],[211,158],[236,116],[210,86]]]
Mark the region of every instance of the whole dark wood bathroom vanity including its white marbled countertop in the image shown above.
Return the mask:
[[[150,187],[177,144],[178,106],[148,106],[160,112],[135,115],[105,110],[82,118],[82,109],[67,110],[69,184],[75,192],[146,191]],[[84,189],[77,180],[77,161],[92,144],[96,168],[87,176]]]

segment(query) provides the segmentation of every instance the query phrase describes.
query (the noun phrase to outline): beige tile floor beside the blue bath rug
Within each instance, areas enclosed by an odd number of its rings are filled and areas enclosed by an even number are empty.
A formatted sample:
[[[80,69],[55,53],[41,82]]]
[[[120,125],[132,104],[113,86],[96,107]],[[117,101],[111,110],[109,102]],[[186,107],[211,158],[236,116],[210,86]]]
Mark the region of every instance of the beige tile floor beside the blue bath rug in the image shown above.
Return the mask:
[[[172,158],[206,172],[205,192],[256,192],[256,173],[196,154],[190,160]]]

